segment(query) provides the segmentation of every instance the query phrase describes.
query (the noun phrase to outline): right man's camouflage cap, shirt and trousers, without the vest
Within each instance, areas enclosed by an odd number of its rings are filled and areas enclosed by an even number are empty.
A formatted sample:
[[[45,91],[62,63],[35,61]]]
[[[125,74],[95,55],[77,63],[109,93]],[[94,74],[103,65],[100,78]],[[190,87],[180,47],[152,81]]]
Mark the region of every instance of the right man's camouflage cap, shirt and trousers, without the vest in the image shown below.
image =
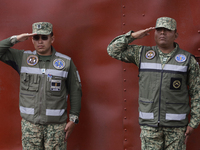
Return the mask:
[[[169,24],[171,24],[169,26]],[[160,18],[157,20],[156,28],[164,27],[169,30],[176,29],[176,22],[171,18]],[[142,45],[129,45],[135,39],[131,36],[132,31],[116,37],[108,45],[108,54],[118,60],[126,63],[133,63],[137,67],[140,66],[140,55],[142,51]],[[169,54],[163,53],[158,49],[159,57],[161,60],[162,68],[167,64],[168,60],[177,50],[178,45],[175,43],[175,49]],[[197,128],[200,123],[200,79],[199,79],[199,65],[195,58],[192,56],[188,68],[188,83],[189,95],[191,97],[191,118],[189,126]],[[170,149],[170,150],[184,150],[186,146],[184,144],[186,127],[173,128],[173,127],[149,127],[141,126],[141,142],[143,150],[155,150],[155,149]],[[165,137],[164,137],[165,135]],[[163,140],[165,139],[165,140]]]

